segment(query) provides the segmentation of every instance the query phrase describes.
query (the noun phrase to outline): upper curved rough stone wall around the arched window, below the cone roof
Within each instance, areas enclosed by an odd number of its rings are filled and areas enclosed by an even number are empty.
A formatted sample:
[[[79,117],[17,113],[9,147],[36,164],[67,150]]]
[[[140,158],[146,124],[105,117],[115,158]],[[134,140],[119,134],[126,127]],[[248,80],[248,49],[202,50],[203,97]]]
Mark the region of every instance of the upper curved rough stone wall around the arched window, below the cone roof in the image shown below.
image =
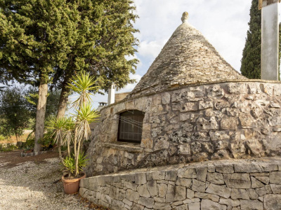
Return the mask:
[[[101,110],[88,176],[281,153],[281,83],[224,82],[129,98]],[[141,144],[117,142],[119,113],[145,113]]]

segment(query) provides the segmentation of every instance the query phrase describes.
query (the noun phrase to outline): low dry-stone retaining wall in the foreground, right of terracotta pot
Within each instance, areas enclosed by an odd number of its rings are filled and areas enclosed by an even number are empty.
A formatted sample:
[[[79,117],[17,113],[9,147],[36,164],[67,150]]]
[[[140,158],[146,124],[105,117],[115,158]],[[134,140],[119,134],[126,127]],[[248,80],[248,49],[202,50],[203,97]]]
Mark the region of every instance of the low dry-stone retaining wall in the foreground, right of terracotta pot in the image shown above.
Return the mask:
[[[116,210],[281,209],[281,159],[218,160],[82,179],[81,196]]]

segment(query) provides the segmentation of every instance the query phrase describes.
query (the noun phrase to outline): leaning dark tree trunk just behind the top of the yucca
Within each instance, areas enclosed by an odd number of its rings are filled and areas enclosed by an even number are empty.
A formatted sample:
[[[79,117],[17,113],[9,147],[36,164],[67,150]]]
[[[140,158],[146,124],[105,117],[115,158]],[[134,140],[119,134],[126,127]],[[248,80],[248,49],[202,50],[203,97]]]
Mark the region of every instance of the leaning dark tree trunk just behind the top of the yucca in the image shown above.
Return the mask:
[[[70,76],[65,76],[65,80],[62,84],[62,91],[60,93],[60,102],[58,104],[57,118],[63,118],[65,116],[65,110],[68,102],[68,96],[70,94],[70,88],[67,87],[67,83],[70,82]]]

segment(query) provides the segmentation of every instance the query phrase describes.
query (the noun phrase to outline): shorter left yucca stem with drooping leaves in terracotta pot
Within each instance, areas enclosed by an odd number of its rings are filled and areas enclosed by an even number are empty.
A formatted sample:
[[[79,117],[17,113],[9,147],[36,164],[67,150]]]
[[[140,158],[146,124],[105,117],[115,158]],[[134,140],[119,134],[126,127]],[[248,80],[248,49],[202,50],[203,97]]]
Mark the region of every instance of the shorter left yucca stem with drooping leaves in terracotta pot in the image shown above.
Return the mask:
[[[53,134],[51,136],[54,136],[53,141],[55,142],[55,144],[58,144],[58,155],[61,161],[63,161],[61,146],[63,144],[65,124],[65,118],[53,118],[47,123],[48,129],[53,130]]]

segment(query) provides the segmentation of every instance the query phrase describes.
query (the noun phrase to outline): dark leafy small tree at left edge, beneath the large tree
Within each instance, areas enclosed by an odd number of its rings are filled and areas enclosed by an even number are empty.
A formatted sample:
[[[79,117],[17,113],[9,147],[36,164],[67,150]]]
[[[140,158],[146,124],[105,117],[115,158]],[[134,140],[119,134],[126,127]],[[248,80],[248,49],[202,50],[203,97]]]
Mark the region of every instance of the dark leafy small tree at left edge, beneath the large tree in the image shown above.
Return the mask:
[[[25,94],[22,87],[10,87],[0,92],[0,134],[5,137],[21,136],[29,123],[31,116]]]

